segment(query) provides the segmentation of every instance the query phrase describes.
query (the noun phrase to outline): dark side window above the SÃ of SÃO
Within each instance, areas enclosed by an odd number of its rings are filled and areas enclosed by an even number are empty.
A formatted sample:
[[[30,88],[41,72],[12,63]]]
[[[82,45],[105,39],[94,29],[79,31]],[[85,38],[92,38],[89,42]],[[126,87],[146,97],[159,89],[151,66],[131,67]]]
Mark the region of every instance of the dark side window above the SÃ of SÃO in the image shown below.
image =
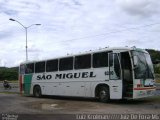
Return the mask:
[[[35,63],[35,73],[45,72],[45,62]]]

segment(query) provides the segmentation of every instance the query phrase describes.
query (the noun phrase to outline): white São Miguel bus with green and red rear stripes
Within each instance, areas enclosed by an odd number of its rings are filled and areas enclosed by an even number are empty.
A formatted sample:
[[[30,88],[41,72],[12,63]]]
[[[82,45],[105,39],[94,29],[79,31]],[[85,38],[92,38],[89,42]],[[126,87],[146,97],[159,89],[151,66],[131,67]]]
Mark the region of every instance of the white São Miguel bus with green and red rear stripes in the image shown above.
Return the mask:
[[[19,67],[22,95],[138,99],[153,96],[155,77],[147,51],[136,47],[104,48]]]

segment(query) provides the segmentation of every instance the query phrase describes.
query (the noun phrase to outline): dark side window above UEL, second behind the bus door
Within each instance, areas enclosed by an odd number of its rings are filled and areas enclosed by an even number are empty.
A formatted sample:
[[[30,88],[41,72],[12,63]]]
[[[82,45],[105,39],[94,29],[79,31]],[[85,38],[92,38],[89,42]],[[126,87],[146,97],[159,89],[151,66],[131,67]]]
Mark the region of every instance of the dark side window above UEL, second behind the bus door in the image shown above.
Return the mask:
[[[75,69],[86,69],[91,67],[91,54],[76,56],[75,57]]]

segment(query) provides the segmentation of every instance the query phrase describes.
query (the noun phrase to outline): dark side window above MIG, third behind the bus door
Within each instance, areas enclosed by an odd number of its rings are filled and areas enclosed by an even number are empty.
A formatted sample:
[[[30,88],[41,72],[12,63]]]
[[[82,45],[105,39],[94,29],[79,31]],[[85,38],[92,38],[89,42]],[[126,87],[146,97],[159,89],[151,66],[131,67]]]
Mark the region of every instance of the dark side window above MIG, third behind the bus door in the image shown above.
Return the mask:
[[[62,58],[59,61],[59,70],[72,70],[73,69],[73,57]]]

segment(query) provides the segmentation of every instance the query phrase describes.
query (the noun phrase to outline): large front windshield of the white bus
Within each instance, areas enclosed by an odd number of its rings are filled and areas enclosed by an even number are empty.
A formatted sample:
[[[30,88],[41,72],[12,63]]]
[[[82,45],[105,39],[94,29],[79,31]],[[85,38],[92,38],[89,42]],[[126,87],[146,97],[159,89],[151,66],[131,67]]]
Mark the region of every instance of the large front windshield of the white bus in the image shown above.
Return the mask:
[[[154,71],[150,55],[140,51],[133,51],[132,54],[138,58],[138,64],[134,69],[135,79],[153,79]]]

